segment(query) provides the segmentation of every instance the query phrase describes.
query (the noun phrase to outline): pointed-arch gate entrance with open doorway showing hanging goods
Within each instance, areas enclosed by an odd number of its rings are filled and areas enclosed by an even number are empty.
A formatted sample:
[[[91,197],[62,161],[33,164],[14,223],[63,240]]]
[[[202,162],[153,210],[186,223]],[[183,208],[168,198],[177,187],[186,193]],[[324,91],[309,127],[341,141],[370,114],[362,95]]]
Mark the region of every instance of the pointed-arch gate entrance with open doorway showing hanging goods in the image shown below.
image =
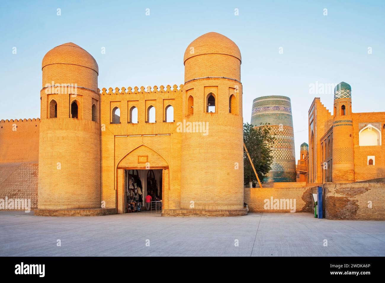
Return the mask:
[[[169,189],[169,166],[166,160],[147,146],[139,146],[119,161],[116,169],[117,212],[126,213],[142,204],[146,210],[145,198],[167,203]],[[142,193],[142,194],[139,194]]]

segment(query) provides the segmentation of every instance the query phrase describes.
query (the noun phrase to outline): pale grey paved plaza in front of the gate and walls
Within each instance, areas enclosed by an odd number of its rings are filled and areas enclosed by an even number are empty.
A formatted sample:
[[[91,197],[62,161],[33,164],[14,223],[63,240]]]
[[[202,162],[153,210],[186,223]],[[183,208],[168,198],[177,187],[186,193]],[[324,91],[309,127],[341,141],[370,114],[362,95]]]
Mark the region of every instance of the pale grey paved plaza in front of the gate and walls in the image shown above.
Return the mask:
[[[0,256],[385,256],[385,221],[311,213],[179,218],[0,211],[0,227]]]

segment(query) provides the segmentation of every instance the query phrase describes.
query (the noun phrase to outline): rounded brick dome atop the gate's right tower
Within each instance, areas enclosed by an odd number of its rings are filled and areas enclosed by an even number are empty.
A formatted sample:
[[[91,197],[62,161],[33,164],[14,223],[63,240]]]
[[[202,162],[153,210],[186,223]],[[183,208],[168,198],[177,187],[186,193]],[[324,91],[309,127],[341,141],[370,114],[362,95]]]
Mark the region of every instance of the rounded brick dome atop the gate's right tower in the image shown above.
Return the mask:
[[[191,54],[191,47],[194,47],[193,54]],[[192,41],[184,52],[183,62],[202,54],[226,54],[236,57],[241,61],[241,52],[233,40],[216,32],[205,33]]]

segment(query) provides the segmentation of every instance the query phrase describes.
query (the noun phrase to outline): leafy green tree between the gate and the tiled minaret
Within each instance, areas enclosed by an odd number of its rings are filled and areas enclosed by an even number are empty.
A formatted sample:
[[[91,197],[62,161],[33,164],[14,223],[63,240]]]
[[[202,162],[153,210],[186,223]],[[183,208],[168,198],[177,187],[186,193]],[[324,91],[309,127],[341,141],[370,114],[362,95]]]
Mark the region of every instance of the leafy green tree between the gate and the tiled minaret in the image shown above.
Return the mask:
[[[252,124],[243,124],[243,141],[253,161],[255,171],[257,171],[261,183],[267,178],[273,163],[271,146],[274,144],[275,137],[271,134],[269,124],[262,124],[254,127]],[[243,153],[244,164],[244,184],[249,182],[257,183],[257,178],[251,167],[246,151]]]

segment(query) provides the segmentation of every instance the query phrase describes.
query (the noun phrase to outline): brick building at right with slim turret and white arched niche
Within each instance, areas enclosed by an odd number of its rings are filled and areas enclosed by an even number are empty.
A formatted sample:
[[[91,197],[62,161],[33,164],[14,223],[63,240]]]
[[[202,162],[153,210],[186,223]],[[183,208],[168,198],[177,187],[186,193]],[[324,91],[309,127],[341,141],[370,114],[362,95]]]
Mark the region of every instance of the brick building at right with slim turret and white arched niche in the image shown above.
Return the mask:
[[[385,112],[352,112],[352,90],[345,82],[336,86],[334,98],[333,114],[317,97],[310,106],[306,181],[350,183],[385,177]],[[375,144],[362,143],[365,127],[378,136]]]

